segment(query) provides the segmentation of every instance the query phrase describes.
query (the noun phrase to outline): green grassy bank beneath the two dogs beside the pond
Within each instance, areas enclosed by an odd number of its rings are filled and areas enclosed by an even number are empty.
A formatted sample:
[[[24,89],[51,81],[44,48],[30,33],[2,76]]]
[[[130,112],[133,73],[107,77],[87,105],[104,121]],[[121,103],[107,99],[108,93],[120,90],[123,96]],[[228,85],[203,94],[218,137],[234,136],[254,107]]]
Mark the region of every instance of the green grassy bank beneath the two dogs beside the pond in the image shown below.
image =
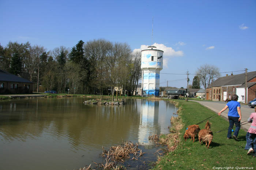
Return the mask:
[[[256,158],[246,155],[244,150],[246,144],[246,131],[240,129],[238,139],[227,139],[227,131],[216,133],[229,126],[227,120],[221,116],[211,119],[211,130],[213,140],[209,149],[204,144],[199,143],[198,139],[193,141],[183,139],[185,129],[191,124],[196,124],[210,116],[215,116],[214,111],[196,102],[185,102],[176,100],[182,111],[179,113],[183,128],[180,131],[180,143],[176,150],[160,158],[155,169],[213,169],[213,167],[254,167],[256,168]],[[200,129],[204,129],[206,122],[200,124]]]

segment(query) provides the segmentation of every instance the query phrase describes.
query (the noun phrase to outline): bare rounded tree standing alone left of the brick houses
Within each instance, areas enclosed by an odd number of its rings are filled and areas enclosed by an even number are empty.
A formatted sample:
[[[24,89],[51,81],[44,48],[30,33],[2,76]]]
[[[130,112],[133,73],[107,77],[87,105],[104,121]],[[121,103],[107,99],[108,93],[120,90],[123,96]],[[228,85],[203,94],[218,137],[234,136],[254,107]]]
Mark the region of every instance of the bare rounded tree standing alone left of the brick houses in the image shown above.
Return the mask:
[[[215,79],[219,78],[219,68],[213,65],[204,64],[197,68],[196,71],[197,76],[200,79],[200,82],[203,84],[205,88],[205,96],[206,96],[206,88],[210,85]]]

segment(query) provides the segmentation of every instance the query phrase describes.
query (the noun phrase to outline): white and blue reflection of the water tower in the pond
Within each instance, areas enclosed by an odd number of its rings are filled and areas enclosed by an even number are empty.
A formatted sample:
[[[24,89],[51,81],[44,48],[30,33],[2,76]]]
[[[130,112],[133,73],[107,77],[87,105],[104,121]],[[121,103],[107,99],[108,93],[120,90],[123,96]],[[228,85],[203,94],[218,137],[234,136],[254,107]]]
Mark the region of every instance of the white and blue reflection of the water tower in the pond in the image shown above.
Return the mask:
[[[148,137],[160,133],[161,124],[158,124],[159,101],[143,100],[140,109],[140,125],[138,131],[138,142],[148,143]]]

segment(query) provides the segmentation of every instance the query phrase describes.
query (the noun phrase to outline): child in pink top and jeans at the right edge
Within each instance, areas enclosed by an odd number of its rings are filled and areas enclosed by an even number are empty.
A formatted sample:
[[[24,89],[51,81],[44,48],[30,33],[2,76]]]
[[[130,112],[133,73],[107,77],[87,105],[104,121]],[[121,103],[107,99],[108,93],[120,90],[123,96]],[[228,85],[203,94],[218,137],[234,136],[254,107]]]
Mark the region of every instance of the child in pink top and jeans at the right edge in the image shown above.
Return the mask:
[[[248,150],[247,155],[256,152],[256,107],[254,108],[254,110],[255,112],[252,113],[248,118],[248,122],[252,122],[252,124],[246,134],[245,149]]]

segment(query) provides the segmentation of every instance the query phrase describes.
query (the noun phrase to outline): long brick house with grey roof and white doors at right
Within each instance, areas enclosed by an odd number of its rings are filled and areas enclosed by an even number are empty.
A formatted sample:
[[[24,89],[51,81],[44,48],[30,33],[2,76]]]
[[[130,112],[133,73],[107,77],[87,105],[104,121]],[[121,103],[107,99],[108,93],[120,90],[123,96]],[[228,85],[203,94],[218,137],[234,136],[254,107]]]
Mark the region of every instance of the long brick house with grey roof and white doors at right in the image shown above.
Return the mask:
[[[247,82],[256,82],[256,71],[247,73]],[[237,88],[241,87],[243,84],[245,84],[245,73],[237,75],[231,74],[230,76],[226,75],[218,78],[206,88],[206,99],[213,101],[225,101],[226,99],[231,99],[233,94],[237,94]],[[253,88],[254,86],[248,88],[248,100],[249,96],[255,96]]]

